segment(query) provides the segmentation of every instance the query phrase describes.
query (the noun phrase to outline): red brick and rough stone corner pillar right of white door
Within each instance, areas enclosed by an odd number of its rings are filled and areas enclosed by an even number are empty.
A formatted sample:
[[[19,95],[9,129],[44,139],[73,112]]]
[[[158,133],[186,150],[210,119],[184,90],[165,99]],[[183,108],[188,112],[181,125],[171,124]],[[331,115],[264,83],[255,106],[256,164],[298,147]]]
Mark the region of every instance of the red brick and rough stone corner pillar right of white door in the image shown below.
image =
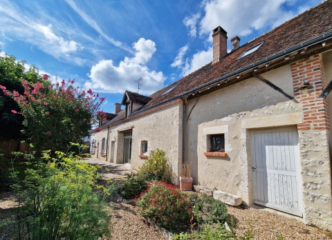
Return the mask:
[[[321,55],[291,64],[294,92],[302,103],[303,123],[299,130],[302,165],[304,219],[307,223],[332,230],[330,120],[327,99],[319,96],[325,88]],[[330,67],[332,64],[327,64]],[[303,81],[310,90],[297,90]]]

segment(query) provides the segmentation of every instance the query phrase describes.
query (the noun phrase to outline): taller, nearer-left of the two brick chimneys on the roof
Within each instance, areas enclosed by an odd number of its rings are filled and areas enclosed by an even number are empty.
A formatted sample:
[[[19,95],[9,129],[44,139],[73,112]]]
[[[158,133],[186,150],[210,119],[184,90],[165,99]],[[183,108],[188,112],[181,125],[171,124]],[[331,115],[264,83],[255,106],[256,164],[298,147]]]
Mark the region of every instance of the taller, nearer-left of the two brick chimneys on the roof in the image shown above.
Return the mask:
[[[212,31],[213,37],[213,62],[219,61],[227,54],[227,32],[219,26]]]

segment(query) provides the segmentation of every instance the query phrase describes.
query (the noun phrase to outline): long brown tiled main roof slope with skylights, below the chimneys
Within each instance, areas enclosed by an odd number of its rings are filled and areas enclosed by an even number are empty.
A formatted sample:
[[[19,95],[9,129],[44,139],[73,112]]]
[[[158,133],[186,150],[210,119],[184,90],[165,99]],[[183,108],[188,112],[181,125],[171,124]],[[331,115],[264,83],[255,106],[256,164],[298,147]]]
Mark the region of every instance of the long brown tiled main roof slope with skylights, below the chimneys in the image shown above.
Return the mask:
[[[142,110],[163,101],[167,101],[167,99],[172,99],[199,86],[203,86],[205,83],[213,81],[226,74],[250,66],[250,64],[266,59],[273,54],[283,52],[288,48],[318,37],[324,32],[331,31],[331,12],[332,1],[328,0],[315,8],[311,8],[310,10],[299,14],[297,17],[287,21],[281,26],[261,35],[261,37],[257,37],[243,46],[240,46],[237,50],[228,53],[219,61],[219,63],[208,63],[203,66],[203,68],[192,72],[183,77],[183,79],[172,83],[170,86],[154,92],[150,95],[152,98],[151,101],[149,101]],[[245,50],[256,46],[262,41],[265,42],[259,50],[246,57],[238,59]],[[178,84],[176,88],[167,92],[169,88],[172,88],[176,84]],[[163,94],[164,92],[167,93]]]

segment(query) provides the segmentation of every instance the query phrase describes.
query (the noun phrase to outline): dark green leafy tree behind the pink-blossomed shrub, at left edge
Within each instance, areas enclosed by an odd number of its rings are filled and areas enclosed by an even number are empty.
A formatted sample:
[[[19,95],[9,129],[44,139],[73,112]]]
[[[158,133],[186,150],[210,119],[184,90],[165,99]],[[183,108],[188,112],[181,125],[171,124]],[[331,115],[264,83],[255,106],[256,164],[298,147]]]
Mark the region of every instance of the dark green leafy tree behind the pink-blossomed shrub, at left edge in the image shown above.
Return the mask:
[[[0,51],[1,52],[1,51]],[[28,70],[24,68],[26,61],[17,61],[14,56],[4,54],[0,56],[0,85],[7,90],[17,91],[23,94],[24,88],[21,84],[22,79],[29,84],[44,84],[39,70],[35,66],[30,66]],[[19,106],[10,96],[6,96],[0,91],[0,138],[1,139],[20,139],[22,122],[24,117],[20,114],[13,114],[11,111],[19,112]]]

